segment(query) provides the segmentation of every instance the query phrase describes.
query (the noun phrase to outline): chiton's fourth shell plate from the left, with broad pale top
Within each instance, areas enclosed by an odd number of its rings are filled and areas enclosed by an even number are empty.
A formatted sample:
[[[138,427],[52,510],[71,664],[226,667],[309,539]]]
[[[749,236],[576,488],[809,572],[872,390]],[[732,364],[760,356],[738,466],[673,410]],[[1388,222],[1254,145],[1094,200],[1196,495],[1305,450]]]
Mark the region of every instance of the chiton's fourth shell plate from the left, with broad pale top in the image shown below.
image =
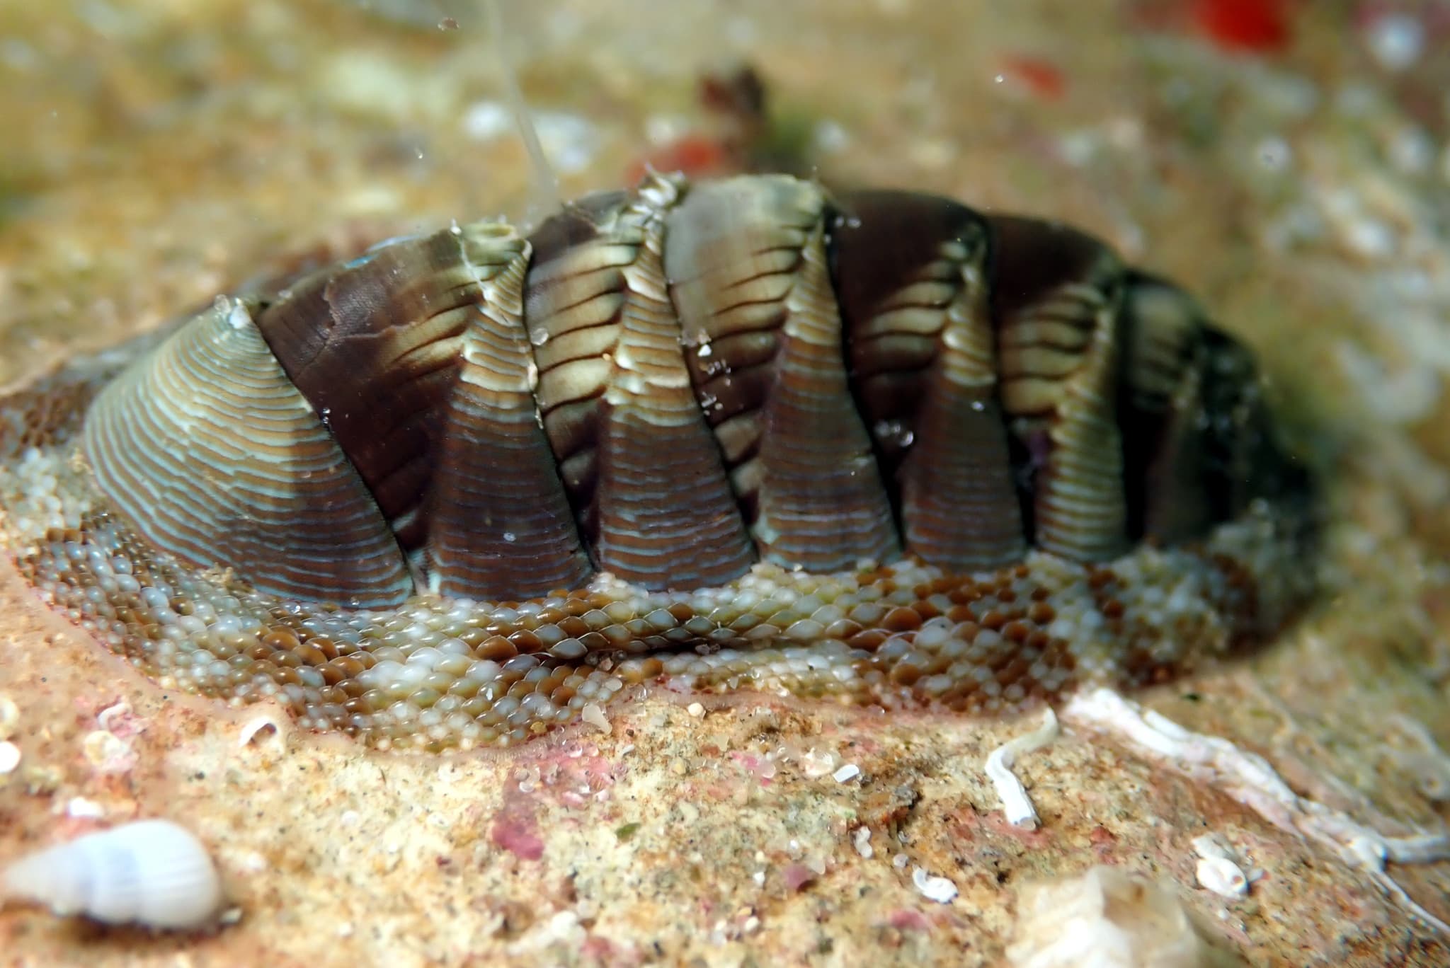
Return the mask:
[[[784,175],[696,185],[664,264],[696,396],[761,558],[851,568],[899,548],[845,378],[825,197]]]

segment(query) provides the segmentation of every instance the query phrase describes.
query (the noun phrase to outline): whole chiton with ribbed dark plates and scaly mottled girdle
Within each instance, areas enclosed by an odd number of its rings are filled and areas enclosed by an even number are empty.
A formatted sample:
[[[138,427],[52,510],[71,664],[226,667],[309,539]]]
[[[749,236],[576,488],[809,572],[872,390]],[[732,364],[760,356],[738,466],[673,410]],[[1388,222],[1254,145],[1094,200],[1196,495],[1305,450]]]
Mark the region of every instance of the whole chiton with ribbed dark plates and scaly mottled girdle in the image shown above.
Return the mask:
[[[45,600],[384,748],[650,683],[1003,712],[1311,591],[1308,475],[1183,291],[1061,225],[786,175],[392,239],[3,414]]]

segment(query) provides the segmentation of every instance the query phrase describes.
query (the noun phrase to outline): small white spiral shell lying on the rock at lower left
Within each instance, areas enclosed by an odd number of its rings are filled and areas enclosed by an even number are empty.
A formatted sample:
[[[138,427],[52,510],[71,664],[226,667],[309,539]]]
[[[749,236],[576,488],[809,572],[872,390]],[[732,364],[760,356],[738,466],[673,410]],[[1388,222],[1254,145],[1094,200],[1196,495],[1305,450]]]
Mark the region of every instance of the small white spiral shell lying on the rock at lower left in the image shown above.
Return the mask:
[[[4,869],[4,893],[109,925],[196,929],[216,922],[222,883],[190,830],[138,820],[20,858]]]

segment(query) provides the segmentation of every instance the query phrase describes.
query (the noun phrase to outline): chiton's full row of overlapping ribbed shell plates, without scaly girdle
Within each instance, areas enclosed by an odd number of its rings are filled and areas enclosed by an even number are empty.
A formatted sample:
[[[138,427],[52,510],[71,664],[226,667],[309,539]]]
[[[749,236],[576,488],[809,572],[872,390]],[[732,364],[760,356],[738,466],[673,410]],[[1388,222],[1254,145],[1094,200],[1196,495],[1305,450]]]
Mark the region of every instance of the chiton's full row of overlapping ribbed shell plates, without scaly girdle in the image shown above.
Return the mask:
[[[1096,562],[1305,487],[1182,291],[932,196],[651,174],[532,242],[394,239],[257,304],[117,380],[87,446],[160,546],[293,597]]]

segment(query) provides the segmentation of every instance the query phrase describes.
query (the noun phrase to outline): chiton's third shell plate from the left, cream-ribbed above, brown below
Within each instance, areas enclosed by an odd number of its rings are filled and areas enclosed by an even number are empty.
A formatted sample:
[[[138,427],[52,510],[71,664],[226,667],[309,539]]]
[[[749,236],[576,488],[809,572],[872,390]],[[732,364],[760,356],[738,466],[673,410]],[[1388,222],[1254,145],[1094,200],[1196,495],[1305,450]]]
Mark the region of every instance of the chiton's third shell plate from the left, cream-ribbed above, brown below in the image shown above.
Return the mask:
[[[722,584],[754,559],[664,281],[677,200],[650,175],[545,222],[526,303],[544,426],[593,556],[647,588]]]

